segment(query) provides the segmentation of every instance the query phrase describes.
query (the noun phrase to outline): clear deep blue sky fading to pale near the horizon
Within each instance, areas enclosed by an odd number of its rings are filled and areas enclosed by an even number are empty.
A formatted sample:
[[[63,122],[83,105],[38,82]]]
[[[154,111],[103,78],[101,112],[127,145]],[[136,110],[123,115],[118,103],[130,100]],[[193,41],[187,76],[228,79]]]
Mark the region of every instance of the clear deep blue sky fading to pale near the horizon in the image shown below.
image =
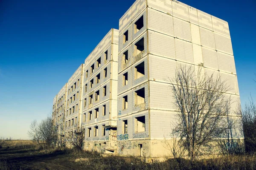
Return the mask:
[[[33,119],[135,0],[0,0],[0,137],[28,139]],[[241,102],[256,99],[256,1],[183,0],[230,26]]]

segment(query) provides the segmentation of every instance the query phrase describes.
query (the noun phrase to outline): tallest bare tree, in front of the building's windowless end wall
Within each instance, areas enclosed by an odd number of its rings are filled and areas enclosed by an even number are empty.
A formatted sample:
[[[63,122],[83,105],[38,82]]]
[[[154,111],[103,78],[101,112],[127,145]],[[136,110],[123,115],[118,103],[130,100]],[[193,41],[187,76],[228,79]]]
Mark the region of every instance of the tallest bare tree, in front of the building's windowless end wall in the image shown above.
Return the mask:
[[[177,106],[173,133],[193,162],[200,154],[209,153],[226,129],[222,122],[229,102],[224,93],[229,89],[220,76],[207,76],[201,67],[196,73],[192,67],[180,66],[170,83]]]

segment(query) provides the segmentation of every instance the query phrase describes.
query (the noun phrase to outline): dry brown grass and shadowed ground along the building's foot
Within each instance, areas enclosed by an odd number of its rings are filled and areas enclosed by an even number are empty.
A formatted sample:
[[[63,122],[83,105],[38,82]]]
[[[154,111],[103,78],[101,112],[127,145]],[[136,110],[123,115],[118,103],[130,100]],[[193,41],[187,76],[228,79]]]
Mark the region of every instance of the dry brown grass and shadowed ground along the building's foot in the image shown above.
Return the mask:
[[[0,170],[255,170],[256,155],[220,156],[190,164],[185,159],[146,163],[135,157],[45,148],[32,141],[0,140]]]

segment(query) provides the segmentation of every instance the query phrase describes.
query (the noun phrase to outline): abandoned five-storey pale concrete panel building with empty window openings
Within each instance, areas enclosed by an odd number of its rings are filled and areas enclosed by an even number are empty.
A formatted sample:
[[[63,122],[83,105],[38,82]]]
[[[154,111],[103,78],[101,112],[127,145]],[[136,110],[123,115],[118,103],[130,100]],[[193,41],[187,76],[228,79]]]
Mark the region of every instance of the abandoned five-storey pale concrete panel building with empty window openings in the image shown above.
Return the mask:
[[[176,0],[136,0],[55,96],[60,133],[72,138],[82,127],[85,150],[170,156],[175,104],[167,79],[178,65],[227,79],[238,108],[228,23]]]

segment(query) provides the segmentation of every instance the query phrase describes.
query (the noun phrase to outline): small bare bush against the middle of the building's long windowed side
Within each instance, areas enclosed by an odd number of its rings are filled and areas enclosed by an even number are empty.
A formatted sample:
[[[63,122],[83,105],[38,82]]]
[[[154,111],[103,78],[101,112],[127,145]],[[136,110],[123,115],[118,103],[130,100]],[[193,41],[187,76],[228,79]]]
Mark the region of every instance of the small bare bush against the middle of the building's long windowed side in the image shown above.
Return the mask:
[[[76,149],[83,150],[84,144],[84,129],[76,124],[74,131],[70,131],[70,136],[68,136],[67,141]]]

